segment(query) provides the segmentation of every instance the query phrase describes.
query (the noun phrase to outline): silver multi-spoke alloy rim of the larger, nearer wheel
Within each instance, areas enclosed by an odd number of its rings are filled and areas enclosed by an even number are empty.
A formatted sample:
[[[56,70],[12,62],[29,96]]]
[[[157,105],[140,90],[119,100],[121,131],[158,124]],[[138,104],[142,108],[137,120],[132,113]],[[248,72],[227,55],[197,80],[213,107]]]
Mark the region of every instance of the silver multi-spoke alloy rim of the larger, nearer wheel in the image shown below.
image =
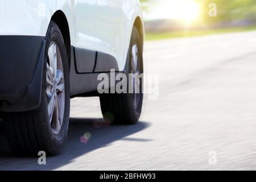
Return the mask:
[[[57,135],[63,125],[65,82],[60,50],[55,42],[51,42],[48,49],[46,84],[48,121],[52,132]]]

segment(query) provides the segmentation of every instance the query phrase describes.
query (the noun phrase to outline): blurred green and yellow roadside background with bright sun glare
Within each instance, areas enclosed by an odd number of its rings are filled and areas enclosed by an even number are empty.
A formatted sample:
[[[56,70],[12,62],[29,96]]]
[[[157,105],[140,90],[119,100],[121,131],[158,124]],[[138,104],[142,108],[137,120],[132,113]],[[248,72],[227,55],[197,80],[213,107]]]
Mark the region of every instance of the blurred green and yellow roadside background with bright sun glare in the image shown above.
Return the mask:
[[[141,2],[147,40],[256,28],[255,0],[141,0]],[[217,8],[217,16],[211,17],[209,11],[214,5]]]

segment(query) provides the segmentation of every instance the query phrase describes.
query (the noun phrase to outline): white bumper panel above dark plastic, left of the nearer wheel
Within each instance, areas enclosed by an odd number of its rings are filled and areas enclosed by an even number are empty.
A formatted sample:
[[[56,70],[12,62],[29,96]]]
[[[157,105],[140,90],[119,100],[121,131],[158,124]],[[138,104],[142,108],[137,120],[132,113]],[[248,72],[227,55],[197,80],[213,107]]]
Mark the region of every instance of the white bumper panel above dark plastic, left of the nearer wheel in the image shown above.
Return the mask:
[[[0,0],[0,35],[46,36],[53,1]]]

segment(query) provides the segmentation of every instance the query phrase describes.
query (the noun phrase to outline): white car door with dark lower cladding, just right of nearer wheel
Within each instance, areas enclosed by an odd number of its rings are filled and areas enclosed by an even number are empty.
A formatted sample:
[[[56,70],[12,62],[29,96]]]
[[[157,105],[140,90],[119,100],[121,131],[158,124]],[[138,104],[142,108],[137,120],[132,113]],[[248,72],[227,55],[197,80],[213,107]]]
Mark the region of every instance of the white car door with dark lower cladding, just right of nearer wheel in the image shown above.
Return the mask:
[[[79,73],[93,72],[96,60],[96,0],[72,0],[75,29],[74,50]]]

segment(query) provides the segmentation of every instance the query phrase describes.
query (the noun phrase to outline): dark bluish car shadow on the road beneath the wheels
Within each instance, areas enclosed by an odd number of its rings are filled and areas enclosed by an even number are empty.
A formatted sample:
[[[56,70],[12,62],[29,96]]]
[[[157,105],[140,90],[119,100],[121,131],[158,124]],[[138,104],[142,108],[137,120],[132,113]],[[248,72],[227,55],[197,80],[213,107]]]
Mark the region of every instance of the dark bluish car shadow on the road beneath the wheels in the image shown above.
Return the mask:
[[[47,164],[39,166],[38,158],[13,157],[8,155],[9,150],[6,147],[0,147],[0,170],[53,170],[72,163],[72,160],[88,152],[107,147],[117,140],[150,142],[150,139],[129,137],[148,127],[150,123],[147,122],[113,126],[104,124],[102,119],[71,118],[67,143],[60,155],[47,157]],[[3,142],[5,140],[0,137],[0,146],[5,146]]]

